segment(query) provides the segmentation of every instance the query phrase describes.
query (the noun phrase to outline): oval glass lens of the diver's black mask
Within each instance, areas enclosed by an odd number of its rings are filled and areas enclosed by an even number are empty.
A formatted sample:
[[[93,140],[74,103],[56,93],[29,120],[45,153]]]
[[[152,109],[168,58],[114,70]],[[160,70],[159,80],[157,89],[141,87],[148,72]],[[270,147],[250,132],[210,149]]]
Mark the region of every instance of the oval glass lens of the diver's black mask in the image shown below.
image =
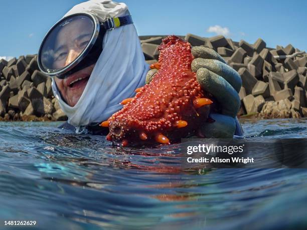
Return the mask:
[[[39,61],[45,72],[57,72],[78,59],[90,43],[95,30],[93,20],[85,15],[60,21],[48,33]]]

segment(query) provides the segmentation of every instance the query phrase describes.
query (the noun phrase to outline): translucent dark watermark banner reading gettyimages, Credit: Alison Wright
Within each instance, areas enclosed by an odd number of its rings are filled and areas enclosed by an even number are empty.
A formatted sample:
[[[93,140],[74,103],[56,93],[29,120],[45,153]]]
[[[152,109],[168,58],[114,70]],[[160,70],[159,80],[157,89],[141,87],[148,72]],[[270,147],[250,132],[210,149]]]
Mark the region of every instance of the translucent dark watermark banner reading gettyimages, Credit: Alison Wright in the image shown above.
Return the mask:
[[[307,168],[306,139],[182,139],[184,168]]]

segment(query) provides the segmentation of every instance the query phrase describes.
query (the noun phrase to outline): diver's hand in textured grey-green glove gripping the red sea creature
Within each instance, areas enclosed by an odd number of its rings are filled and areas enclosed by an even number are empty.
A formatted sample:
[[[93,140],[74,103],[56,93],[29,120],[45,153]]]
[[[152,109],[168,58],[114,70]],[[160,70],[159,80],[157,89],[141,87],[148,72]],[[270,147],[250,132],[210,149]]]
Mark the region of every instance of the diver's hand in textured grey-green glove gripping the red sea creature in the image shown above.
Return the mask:
[[[215,122],[204,122],[201,132],[207,138],[233,138],[236,126],[237,132],[242,132],[236,118],[240,109],[238,92],[242,86],[241,77],[212,49],[193,47],[192,55],[194,60],[191,67],[196,72],[198,83],[215,97],[221,107],[221,114],[210,113],[209,117]],[[146,84],[156,73],[157,69],[148,71]]]

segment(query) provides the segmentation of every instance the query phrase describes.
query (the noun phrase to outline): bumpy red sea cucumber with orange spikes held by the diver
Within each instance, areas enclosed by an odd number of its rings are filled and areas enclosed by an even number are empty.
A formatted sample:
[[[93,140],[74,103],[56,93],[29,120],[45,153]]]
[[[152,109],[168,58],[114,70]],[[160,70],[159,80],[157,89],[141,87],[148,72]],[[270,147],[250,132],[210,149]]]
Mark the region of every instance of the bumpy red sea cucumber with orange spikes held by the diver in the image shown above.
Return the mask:
[[[159,50],[159,62],[155,65],[159,71],[108,119],[108,140],[123,146],[148,141],[169,144],[194,133],[206,121],[206,105],[212,102],[199,100],[206,97],[191,70],[191,45],[168,36]]]

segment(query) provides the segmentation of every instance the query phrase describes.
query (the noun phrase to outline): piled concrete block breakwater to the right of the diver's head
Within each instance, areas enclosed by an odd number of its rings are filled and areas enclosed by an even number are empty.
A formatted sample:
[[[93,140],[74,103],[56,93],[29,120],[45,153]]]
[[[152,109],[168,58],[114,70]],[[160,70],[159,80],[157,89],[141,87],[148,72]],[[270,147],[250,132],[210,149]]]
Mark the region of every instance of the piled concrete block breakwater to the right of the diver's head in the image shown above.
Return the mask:
[[[148,64],[158,60],[158,46],[166,36],[140,36]],[[179,36],[192,46],[214,49],[242,78],[239,116],[259,118],[307,117],[307,54],[291,44],[276,49],[262,39],[254,44],[234,42],[224,36]]]

